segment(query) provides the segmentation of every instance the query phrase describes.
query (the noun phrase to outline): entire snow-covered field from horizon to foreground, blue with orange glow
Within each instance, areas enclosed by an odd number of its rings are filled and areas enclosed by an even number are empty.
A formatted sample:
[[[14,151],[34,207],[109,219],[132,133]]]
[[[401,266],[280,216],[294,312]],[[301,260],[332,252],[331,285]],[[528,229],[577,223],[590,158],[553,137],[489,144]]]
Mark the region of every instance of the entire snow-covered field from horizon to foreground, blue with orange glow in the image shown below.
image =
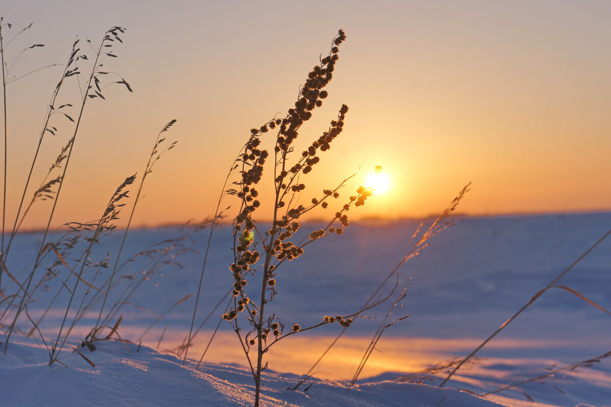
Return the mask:
[[[362,222],[348,227],[341,237],[311,244],[302,258],[285,263],[286,267],[281,269],[277,276],[279,295],[269,309],[287,325],[297,322],[301,326],[318,323],[323,315],[351,314],[362,306],[401,259],[409,248],[409,237],[417,224],[417,221]],[[266,403],[270,406],[435,407],[447,395],[441,407],[494,405],[487,400],[511,407],[611,406],[611,358],[602,359],[592,367],[557,373],[541,383],[532,381],[489,395],[486,400],[468,392],[433,387],[441,383],[447,369],[441,373],[412,374],[409,378],[409,381],[431,386],[391,381],[469,354],[604,235],[610,225],[609,213],[503,216],[459,222],[458,226],[438,235],[430,248],[401,269],[400,283],[408,281],[413,274],[416,276],[408,285],[408,296],[397,317],[407,314],[411,317],[384,332],[376,347],[379,351],[372,354],[357,389],[345,396],[345,389],[338,383],[345,383],[353,375],[381,318],[355,321],[334,350],[316,367],[316,379],[305,383],[315,383],[307,392],[284,389],[307,372],[343,328],[325,326],[274,345],[268,353]],[[318,228],[312,224],[302,229]],[[172,227],[134,230],[125,252],[141,251],[181,233]],[[17,250],[13,249],[15,253],[9,259],[9,268],[13,274],[21,271],[19,279],[23,280],[29,272],[31,252],[40,244],[39,239],[37,233],[24,233],[15,242],[21,255],[16,255]],[[194,243],[186,241],[185,244],[202,250],[207,230],[197,233],[193,239]],[[116,252],[119,241],[120,231],[115,231],[104,238],[92,258],[103,259],[106,252]],[[196,326],[230,288],[230,246],[230,229],[220,227],[211,244]],[[74,257],[76,255],[70,259]],[[122,337],[136,340],[155,321],[156,315],[152,312],[162,314],[178,299],[194,294],[202,259],[202,253],[186,253],[172,259],[180,262],[182,268],[168,263],[150,274],[150,279],[117,314],[117,318],[123,315],[119,329]],[[52,260],[49,259],[49,263]],[[122,275],[148,270],[144,260],[142,257],[129,263]],[[558,284],[571,287],[610,309],[610,269],[611,238],[601,243]],[[103,277],[99,276],[98,281],[103,281]],[[88,278],[90,276],[85,276]],[[120,279],[113,293],[118,296],[129,281]],[[6,279],[2,284],[7,293],[14,288]],[[51,288],[39,290],[35,296],[37,304],[29,307],[34,319],[42,315],[56,293],[53,284],[57,281],[48,284]],[[40,327],[47,340],[53,334],[57,336],[57,326],[67,303],[65,295],[65,292],[60,295]],[[116,296],[112,303],[117,301]],[[40,350],[31,339],[15,336],[7,356],[0,356],[3,395],[0,405],[7,400],[9,406],[250,405],[252,376],[242,369],[244,355],[229,324],[221,324],[221,331],[199,372],[193,365],[182,367],[172,354],[151,349],[158,347],[166,327],[159,350],[175,350],[180,345],[188,332],[192,306],[193,298],[175,307],[144,337],[139,353],[128,353],[121,343],[110,341],[100,343],[93,352],[82,348],[97,368],[91,367],[78,354],[70,353],[68,348],[59,359],[70,368],[56,364],[49,369],[46,350]],[[224,306],[213,313],[197,334],[189,358],[199,360],[202,356]],[[84,332],[95,324],[99,307],[99,303],[92,306],[93,311],[81,320],[71,337],[73,343],[78,343]],[[384,315],[387,309],[384,304],[368,315]],[[483,394],[543,375],[549,369],[604,354],[611,350],[609,318],[577,296],[552,288],[480,351],[478,359],[459,370],[447,387]],[[111,324],[115,321],[116,318]],[[27,331],[29,321],[23,318],[20,324],[23,331]],[[134,350],[134,345],[128,344],[128,347]],[[535,402],[530,402],[528,397]]]

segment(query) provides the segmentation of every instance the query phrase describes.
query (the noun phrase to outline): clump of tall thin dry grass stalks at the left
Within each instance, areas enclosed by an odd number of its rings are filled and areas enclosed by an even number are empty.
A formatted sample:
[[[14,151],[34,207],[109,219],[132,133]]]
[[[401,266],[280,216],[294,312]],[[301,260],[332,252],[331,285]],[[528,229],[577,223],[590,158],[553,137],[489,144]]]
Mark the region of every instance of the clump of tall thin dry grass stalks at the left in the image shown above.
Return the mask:
[[[2,83],[5,95],[5,89],[10,83],[24,78],[35,71],[42,68],[52,67],[55,65],[47,65],[46,67],[37,68],[24,75],[12,75],[12,67],[15,64],[21,54],[28,50],[32,50],[43,46],[42,44],[35,44],[24,48],[21,53],[18,53],[16,57],[13,57],[12,62],[7,62],[7,46],[26,29],[31,28],[32,24],[27,26],[25,29],[17,32],[12,39],[8,42],[5,41],[5,32],[7,29],[11,29],[12,25],[5,23],[4,19],[0,19],[0,54],[2,57]],[[64,226],[68,229],[68,232],[64,233],[61,237],[56,240],[49,240],[49,229],[53,216],[56,210],[57,202],[59,201],[62,186],[64,185],[65,176],[70,164],[70,158],[73,153],[73,147],[78,141],[79,126],[81,125],[84,111],[89,106],[89,101],[93,99],[106,100],[104,95],[106,87],[112,84],[119,84],[125,87],[129,92],[133,92],[130,84],[125,81],[117,73],[106,70],[104,65],[107,59],[117,58],[114,48],[117,44],[122,43],[122,35],[125,33],[125,29],[115,26],[106,31],[101,38],[101,41],[97,48],[93,46],[91,40],[81,41],[76,39],[71,46],[70,55],[67,63],[64,65],[59,81],[53,90],[51,100],[49,101],[45,119],[43,120],[43,127],[38,135],[38,142],[34,152],[31,166],[27,173],[25,185],[23,187],[23,193],[20,194],[20,200],[18,209],[16,210],[15,220],[13,222],[13,228],[10,232],[10,237],[5,241],[5,226],[3,216],[3,231],[2,231],[2,252],[0,253],[0,305],[2,306],[0,314],[0,326],[6,328],[5,334],[6,339],[4,343],[4,353],[7,353],[9,349],[9,343],[11,336],[18,326],[20,318],[23,314],[26,316],[26,320],[31,324],[31,328],[27,330],[27,336],[34,337],[34,339],[40,339],[46,350],[49,353],[49,364],[54,364],[59,361],[59,355],[62,350],[68,345],[68,339],[73,332],[75,326],[82,319],[83,315],[88,311],[92,310],[96,304],[101,306],[98,313],[97,322],[91,330],[91,334],[84,338],[83,344],[87,345],[90,350],[95,349],[92,342],[98,339],[94,334],[99,334],[102,328],[110,329],[110,334],[103,339],[109,339],[111,336],[120,338],[117,328],[120,325],[122,317],[119,317],[117,323],[114,326],[109,326],[108,322],[111,318],[115,318],[117,312],[123,305],[132,304],[129,302],[130,296],[136,292],[143,282],[147,281],[149,276],[158,273],[159,269],[166,265],[179,265],[177,260],[178,256],[185,252],[191,252],[191,248],[185,246],[185,241],[188,241],[188,236],[191,233],[200,230],[203,225],[191,225],[186,227],[185,236],[182,238],[176,238],[172,240],[166,240],[157,244],[154,248],[139,252],[126,262],[120,263],[120,257],[122,255],[123,246],[125,244],[126,237],[130,231],[131,221],[133,219],[136,204],[141,197],[144,181],[148,174],[153,171],[153,166],[156,161],[159,160],[161,155],[167,150],[173,149],[176,142],[167,142],[165,138],[162,138],[162,134],[169,130],[176,120],[172,120],[167,123],[162,130],[159,132],[155,144],[152,149],[152,153],[148,158],[148,162],[144,168],[144,174],[140,177],[139,188],[136,196],[133,200],[133,206],[131,208],[130,217],[127,222],[126,229],[123,230],[122,243],[118,254],[116,256],[111,253],[100,255],[97,251],[94,254],[94,248],[100,243],[101,238],[111,233],[115,226],[113,222],[119,218],[120,207],[123,207],[125,200],[129,198],[128,191],[126,188],[130,186],[135,180],[136,175],[132,175],[125,179],[125,181],[117,188],[112,195],[108,204],[104,208],[103,214],[100,219],[93,222],[70,222]],[[84,46],[83,46],[84,45]],[[81,46],[84,50],[81,49]],[[87,51],[90,49],[90,52]],[[79,79],[82,74],[81,67],[90,65],[89,74],[86,76],[84,82]],[[11,76],[12,75],[12,76]],[[80,90],[80,100],[78,104],[64,103],[62,105],[56,105],[56,100],[59,100],[58,95],[64,89],[64,84],[67,81],[76,80],[78,88]],[[69,109],[75,109],[78,106],[76,114],[70,112]],[[7,103],[4,98],[4,111],[6,111]],[[59,115],[59,116],[57,116]],[[60,127],[58,119],[64,119],[63,125]],[[4,115],[4,123],[7,122],[7,116]],[[34,169],[38,165],[38,158],[40,153],[43,151],[43,142],[46,136],[58,136],[59,134],[65,133],[65,129],[68,126],[73,126],[72,130],[68,130],[71,133],[65,146],[60,150],[56,160],[51,163],[48,171],[40,186],[32,194],[31,200],[26,205],[26,196],[30,191],[32,178],[34,175]],[[5,139],[8,137],[7,128],[4,128]],[[5,149],[6,153],[6,149]],[[6,166],[6,161],[5,161]],[[4,184],[4,188],[6,183]],[[4,189],[6,191],[6,189]],[[31,265],[31,271],[25,273],[22,271],[15,274],[9,271],[7,266],[7,258],[9,256],[10,248],[12,247],[13,241],[15,240],[16,234],[20,231],[21,225],[23,224],[26,216],[31,212],[32,207],[39,202],[51,200],[51,211],[48,215],[46,222],[46,228],[42,232],[42,240],[40,241],[40,249],[34,253],[34,262]],[[3,213],[5,212],[6,193],[4,193],[4,207]],[[77,252],[75,258],[71,258],[74,255],[73,252]],[[78,252],[80,251],[80,254]],[[92,256],[100,256],[99,260],[92,260]],[[123,274],[121,281],[129,281],[126,284],[123,293],[119,296],[119,301],[113,302],[113,306],[110,310],[105,308],[106,302],[109,298],[109,293],[113,287],[116,287],[119,282],[116,281],[115,276],[119,270],[125,268],[126,265],[130,265],[137,257],[148,257],[150,262],[148,268],[144,273],[142,271],[131,272]],[[114,257],[114,259],[113,259]],[[114,265],[112,265],[114,262]],[[72,263],[72,264],[70,264]],[[103,284],[98,286],[99,277],[102,275],[102,270],[109,268],[112,265],[112,272],[110,276],[106,278]],[[42,269],[44,271],[42,271]],[[2,283],[2,276],[6,275],[9,277],[7,284]],[[22,276],[21,274],[24,274]],[[72,282],[71,282],[72,281]],[[56,282],[57,291],[53,296],[49,304],[43,310],[40,317],[37,320],[31,317],[29,308],[36,303],[34,299],[35,293],[41,288],[48,290],[51,286],[51,282]],[[7,288],[12,288],[11,284],[15,285],[15,290],[9,295],[5,292]],[[59,285],[58,285],[59,284]],[[84,285],[84,289],[81,286]],[[52,309],[54,304],[62,299],[66,298],[65,309],[63,312],[63,318],[60,320],[57,326],[56,339],[48,340],[43,336],[43,332],[38,328],[40,323],[47,317],[49,311]],[[178,301],[186,301],[187,298]],[[38,304],[36,304],[38,306]],[[135,306],[135,304],[133,304]],[[106,312],[106,314],[104,314]],[[167,313],[166,313],[167,314]],[[5,322],[8,323],[5,323]],[[73,345],[70,345],[73,347]],[[73,347],[74,348],[74,347]],[[76,349],[73,349],[76,350]],[[78,350],[76,350],[78,351]],[[81,356],[87,359],[82,353]],[[92,363],[87,359],[88,362]]]

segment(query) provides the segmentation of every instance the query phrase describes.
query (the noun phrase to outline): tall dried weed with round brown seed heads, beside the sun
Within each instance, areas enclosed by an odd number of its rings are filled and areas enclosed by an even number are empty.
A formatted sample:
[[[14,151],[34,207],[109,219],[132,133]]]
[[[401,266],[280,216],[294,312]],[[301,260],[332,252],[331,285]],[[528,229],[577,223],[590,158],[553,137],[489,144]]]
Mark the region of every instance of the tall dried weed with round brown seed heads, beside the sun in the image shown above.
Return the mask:
[[[333,77],[335,64],[339,58],[338,47],[345,39],[345,32],[340,30],[333,40],[329,54],[321,58],[320,65],[313,67],[308,74],[304,85],[299,90],[295,106],[288,109],[284,119],[274,118],[261,127],[251,129],[249,139],[234,167],[241,167],[240,180],[234,182],[237,189],[226,191],[241,200],[241,207],[233,222],[234,261],[230,265],[233,276],[233,305],[225,311],[222,317],[231,321],[251,363],[257,386],[255,406],[258,405],[260,374],[265,369],[262,357],[269,350],[269,346],[283,337],[315,328],[302,328],[298,323],[292,323],[290,331],[284,333],[284,323],[275,315],[268,317],[266,314],[265,305],[277,294],[279,266],[285,260],[298,259],[304,254],[305,246],[312,241],[331,235],[341,235],[344,228],[349,225],[346,211],[353,206],[364,205],[367,197],[371,196],[370,189],[360,186],[356,194],[350,196],[347,202],[338,208],[339,210],[335,212],[326,227],[314,230],[305,236],[299,232],[302,227],[299,218],[314,208],[329,207],[329,202],[340,197],[338,190],[349,179],[343,180],[334,189],[324,189],[320,196],[307,200],[306,202],[310,202],[307,205],[295,204],[299,195],[306,189],[305,183],[301,182],[301,177],[312,172],[313,167],[320,162],[320,153],[331,149],[331,143],[343,131],[344,120],[348,112],[346,105],[341,106],[337,119],[332,120],[329,128],[315,139],[301,155],[294,158],[291,155],[295,150],[293,144],[299,136],[301,125],[312,117],[312,111],[322,106],[323,99],[328,96],[327,91],[323,88]],[[273,157],[271,157],[273,164],[268,163],[271,153],[262,147],[264,142],[269,141],[265,136],[271,130],[276,131],[276,137],[273,140],[274,147],[273,150],[270,150],[273,152]],[[273,221],[268,229],[262,230],[258,222],[254,220],[254,215],[261,207],[258,197],[263,172],[270,166],[274,171],[274,205],[271,217]],[[302,237],[296,238],[298,232]],[[261,281],[260,297],[258,295],[258,298],[255,297],[257,301],[253,301],[252,296],[246,294],[248,279],[255,273]],[[245,336],[242,336],[239,325],[240,318],[238,317],[241,313],[244,313],[246,321],[251,325],[251,330]],[[353,318],[333,317],[323,323],[335,321],[347,328]],[[273,340],[272,343],[268,343],[270,339]],[[255,345],[257,358],[253,360],[249,352]]]

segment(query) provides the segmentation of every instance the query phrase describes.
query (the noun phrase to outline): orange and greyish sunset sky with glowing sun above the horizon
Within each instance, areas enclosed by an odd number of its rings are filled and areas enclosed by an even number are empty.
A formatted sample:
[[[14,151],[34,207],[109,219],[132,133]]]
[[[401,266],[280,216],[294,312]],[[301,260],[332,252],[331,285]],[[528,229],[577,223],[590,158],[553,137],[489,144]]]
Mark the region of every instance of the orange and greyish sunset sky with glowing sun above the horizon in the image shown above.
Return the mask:
[[[249,130],[285,116],[340,28],[348,39],[329,97],[302,127],[297,154],[342,103],[349,112],[304,178],[304,202],[358,172],[348,196],[380,165],[390,189],[351,210],[353,219],[431,215],[468,182],[459,211],[472,215],[611,209],[608,1],[2,0],[0,15],[13,24],[5,39],[34,23],[7,48],[9,65],[23,48],[46,45],[20,57],[12,73],[21,75],[64,63],[77,35],[97,43],[111,26],[128,29],[105,68],[134,93],[108,87],[106,100],[88,102],[53,226],[99,218],[171,119],[167,138],[178,145],[147,178],[134,222],[210,215]],[[62,69],[7,88],[11,224]],[[78,99],[76,82],[58,98]],[[52,125],[59,131],[45,136],[36,186],[73,131],[68,120]],[[37,204],[24,227],[43,227],[49,209]]]

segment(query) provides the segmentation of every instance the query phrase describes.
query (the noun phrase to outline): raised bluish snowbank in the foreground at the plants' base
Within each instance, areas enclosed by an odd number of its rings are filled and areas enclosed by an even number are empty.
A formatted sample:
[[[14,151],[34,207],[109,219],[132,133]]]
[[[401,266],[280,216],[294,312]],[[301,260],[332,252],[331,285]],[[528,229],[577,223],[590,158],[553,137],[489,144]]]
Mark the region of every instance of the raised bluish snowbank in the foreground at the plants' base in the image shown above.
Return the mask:
[[[64,359],[70,365],[49,368],[39,363],[40,349],[16,343],[9,361],[0,365],[2,406],[134,406],[251,407],[252,375],[228,365],[181,365],[179,359],[151,348],[112,341],[98,342],[96,367],[78,354]],[[7,358],[5,358],[7,359]],[[295,375],[265,375],[262,405],[266,407],[435,407],[441,400],[453,407],[493,407],[497,403],[455,389],[423,384],[371,383],[348,395],[334,383],[315,381],[307,392],[287,390]]]

